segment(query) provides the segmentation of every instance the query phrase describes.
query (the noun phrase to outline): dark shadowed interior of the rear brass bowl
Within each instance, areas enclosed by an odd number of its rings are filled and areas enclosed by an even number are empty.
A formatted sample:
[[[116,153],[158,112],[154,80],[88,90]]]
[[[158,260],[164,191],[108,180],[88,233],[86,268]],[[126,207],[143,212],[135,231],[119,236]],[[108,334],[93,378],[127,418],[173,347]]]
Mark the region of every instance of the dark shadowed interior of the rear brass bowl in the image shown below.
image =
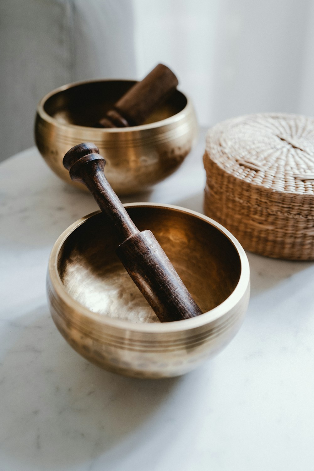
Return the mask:
[[[94,126],[95,122],[103,118],[106,111],[135,83],[136,81],[127,80],[103,80],[72,85],[48,97],[44,103],[44,110],[63,124]],[[144,124],[169,118],[183,110],[186,103],[183,93],[176,90]]]

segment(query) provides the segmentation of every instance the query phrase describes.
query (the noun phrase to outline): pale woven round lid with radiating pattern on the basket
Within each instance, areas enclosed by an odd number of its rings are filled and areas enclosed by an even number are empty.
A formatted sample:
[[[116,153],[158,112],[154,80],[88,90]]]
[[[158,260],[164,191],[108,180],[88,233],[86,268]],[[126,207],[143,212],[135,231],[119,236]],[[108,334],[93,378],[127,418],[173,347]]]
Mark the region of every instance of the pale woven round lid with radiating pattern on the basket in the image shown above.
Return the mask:
[[[248,183],[314,195],[314,118],[270,113],[230,119],[208,131],[206,153]]]

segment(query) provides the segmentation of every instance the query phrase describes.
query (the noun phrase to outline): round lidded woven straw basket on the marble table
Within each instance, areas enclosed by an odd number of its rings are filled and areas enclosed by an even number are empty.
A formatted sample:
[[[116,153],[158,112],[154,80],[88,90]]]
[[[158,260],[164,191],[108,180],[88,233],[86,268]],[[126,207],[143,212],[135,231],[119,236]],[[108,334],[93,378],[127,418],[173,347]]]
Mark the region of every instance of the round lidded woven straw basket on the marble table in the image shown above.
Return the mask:
[[[252,114],[206,136],[205,214],[268,257],[314,259],[314,118]]]

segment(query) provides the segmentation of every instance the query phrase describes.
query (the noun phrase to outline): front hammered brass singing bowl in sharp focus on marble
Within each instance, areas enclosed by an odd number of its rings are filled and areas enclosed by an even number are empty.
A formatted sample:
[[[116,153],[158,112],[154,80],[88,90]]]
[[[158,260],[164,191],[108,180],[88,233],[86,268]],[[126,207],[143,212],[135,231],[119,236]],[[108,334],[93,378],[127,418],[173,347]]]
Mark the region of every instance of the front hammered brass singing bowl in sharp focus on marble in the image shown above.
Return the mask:
[[[106,370],[141,378],[185,374],[238,331],[250,295],[242,246],[214,220],[177,206],[125,205],[150,228],[203,311],[161,323],[115,255],[109,220],[99,211],[68,227],[49,260],[52,318],[66,341]]]

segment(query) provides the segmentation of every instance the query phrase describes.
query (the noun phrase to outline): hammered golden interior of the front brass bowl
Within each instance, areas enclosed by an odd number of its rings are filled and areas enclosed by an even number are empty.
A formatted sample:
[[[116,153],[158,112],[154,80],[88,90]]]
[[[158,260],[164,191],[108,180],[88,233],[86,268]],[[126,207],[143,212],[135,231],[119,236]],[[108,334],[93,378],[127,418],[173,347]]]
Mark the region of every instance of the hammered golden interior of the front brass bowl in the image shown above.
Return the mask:
[[[162,207],[129,207],[140,230],[151,229],[203,312],[235,289],[241,260],[228,237],[191,213]],[[133,322],[159,322],[115,254],[108,219],[97,213],[66,238],[57,269],[69,295],[92,312]]]

